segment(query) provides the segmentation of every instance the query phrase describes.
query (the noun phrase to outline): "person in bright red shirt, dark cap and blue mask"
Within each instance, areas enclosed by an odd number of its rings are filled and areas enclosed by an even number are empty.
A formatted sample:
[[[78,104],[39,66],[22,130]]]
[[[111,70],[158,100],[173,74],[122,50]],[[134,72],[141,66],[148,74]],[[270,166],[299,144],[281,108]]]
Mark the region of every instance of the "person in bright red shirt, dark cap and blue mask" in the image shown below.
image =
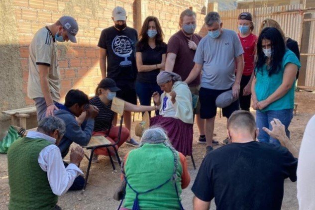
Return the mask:
[[[256,55],[257,36],[254,30],[251,13],[242,12],[238,15],[238,37],[244,49],[244,71],[240,83],[239,104],[242,110],[249,111],[251,97],[251,83],[254,78],[253,70]]]

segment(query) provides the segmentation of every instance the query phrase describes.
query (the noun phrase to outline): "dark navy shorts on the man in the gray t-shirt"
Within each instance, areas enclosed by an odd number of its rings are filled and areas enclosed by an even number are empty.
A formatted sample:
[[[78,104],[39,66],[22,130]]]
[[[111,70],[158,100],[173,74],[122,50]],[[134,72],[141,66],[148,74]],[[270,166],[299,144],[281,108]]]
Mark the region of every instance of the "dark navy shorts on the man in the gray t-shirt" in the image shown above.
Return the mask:
[[[231,90],[231,89],[228,89]],[[228,90],[212,90],[208,88],[200,88],[199,100],[200,100],[200,117],[202,119],[210,119],[216,115],[216,98],[223,92]],[[239,110],[239,101],[233,102],[231,105],[222,108],[223,116],[229,118],[230,115]]]

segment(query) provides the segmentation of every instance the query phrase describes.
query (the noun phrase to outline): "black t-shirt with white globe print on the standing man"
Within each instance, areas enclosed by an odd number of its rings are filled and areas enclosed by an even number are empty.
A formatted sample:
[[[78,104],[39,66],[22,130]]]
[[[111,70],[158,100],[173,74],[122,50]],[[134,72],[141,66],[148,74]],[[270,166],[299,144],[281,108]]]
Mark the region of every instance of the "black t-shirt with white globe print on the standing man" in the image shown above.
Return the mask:
[[[119,31],[114,26],[102,31],[98,46],[106,50],[106,75],[116,81],[134,82],[137,77],[135,61],[135,44],[138,41],[137,31],[126,27]]]

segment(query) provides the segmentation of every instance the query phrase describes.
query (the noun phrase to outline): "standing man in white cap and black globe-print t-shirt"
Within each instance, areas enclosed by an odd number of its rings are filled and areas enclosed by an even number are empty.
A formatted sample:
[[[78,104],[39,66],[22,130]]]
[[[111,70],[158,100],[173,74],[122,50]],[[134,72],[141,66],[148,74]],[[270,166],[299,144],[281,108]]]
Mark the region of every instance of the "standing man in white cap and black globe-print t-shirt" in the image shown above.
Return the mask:
[[[137,77],[137,66],[135,60],[135,44],[138,41],[137,31],[126,25],[126,11],[120,6],[112,10],[114,26],[105,28],[100,36],[100,68],[102,78],[113,79],[121,90],[117,97],[137,104],[135,92],[135,80]],[[107,68],[106,68],[107,59]],[[131,112],[125,111],[124,123],[126,128],[131,130]],[[129,137],[130,139],[130,137]],[[138,146],[134,139],[126,141],[127,144]]]

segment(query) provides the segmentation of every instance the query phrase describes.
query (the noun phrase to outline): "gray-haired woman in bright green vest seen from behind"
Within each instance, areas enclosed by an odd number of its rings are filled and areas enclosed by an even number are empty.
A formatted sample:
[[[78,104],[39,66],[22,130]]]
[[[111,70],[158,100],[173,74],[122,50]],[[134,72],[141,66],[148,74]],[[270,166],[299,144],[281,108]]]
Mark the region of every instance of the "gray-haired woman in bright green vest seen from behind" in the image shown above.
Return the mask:
[[[140,147],[125,156],[122,172],[123,210],[183,210],[180,195],[190,183],[186,158],[162,128],[144,131]]]

